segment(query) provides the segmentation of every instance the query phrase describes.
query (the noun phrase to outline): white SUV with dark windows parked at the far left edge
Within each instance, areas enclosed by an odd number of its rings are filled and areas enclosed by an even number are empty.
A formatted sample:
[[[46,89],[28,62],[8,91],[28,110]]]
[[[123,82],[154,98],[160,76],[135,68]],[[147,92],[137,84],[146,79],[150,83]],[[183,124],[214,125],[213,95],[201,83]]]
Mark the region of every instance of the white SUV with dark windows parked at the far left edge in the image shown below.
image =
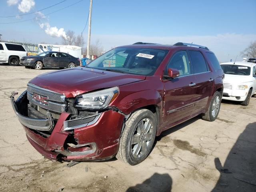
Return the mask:
[[[27,56],[24,46],[9,42],[0,42],[0,63],[9,63],[9,65],[17,66],[20,58]]]

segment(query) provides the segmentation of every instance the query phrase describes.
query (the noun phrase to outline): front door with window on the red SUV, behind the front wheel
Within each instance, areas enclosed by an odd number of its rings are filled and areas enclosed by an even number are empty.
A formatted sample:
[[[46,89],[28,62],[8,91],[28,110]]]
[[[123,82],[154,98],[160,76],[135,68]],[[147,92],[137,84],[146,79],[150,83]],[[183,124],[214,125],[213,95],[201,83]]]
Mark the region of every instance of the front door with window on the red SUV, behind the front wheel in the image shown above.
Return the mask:
[[[179,77],[164,81],[164,122],[170,125],[190,117],[196,97],[196,78],[191,74],[186,51],[176,52],[167,68],[180,72]]]

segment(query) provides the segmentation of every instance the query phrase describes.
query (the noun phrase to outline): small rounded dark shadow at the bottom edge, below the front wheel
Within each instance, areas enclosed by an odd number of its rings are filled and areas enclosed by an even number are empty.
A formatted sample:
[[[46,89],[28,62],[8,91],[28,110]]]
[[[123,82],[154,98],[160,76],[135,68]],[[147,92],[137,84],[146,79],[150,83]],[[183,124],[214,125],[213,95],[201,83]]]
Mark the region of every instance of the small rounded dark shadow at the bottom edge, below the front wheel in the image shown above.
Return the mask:
[[[126,192],[170,192],[172,178],[169,174],[154,173],[141,184],[129,187]]]

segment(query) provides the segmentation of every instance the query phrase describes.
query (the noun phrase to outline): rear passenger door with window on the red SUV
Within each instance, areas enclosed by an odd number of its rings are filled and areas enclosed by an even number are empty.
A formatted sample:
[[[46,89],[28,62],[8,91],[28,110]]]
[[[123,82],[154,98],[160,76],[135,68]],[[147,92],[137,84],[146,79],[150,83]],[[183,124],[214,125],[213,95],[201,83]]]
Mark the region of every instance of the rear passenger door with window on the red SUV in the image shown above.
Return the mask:
[[[198,50],[188,50],[192,64],[192,71],[196,78],[196,102],[193,114],[198,114],[205,109],[214,85],[214,76],[210,71],[208,64],[202,54]]]

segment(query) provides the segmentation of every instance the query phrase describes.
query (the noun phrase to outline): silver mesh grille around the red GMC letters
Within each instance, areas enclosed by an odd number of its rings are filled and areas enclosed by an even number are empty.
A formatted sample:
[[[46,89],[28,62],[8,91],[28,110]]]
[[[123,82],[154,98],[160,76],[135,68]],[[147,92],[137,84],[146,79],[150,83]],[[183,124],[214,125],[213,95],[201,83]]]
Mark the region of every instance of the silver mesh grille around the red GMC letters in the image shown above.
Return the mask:
[[[52,117],[58,119],[60,117],[60,113],[65,112],[66,104],[65,104],[65,96],[56,92],[52,92],[50,90],[46,90],[44,88],[40,88],[35,86],[34,84],[28,84],[27,88],[27,98],[28,100],[38,106],[38,111],[42,114],[46,114],[49,110],[52,112]],[[40,102],[33,98],[33,94],[38,94],[40,96],[44,96],[47,98],[47,103]],[[55,113],[54,113],[55,112]]]

